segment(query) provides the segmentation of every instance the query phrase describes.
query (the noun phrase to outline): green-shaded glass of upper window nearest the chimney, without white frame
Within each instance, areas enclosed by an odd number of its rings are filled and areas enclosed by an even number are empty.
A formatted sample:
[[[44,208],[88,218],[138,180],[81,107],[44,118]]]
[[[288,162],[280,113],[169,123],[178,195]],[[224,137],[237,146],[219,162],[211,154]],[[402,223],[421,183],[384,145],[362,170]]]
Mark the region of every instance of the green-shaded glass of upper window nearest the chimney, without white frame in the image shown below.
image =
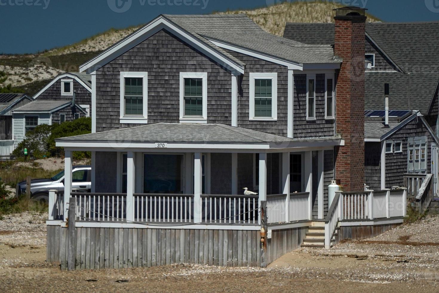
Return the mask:
[[[272,116],[272,80],[255,79],[255,117]]]

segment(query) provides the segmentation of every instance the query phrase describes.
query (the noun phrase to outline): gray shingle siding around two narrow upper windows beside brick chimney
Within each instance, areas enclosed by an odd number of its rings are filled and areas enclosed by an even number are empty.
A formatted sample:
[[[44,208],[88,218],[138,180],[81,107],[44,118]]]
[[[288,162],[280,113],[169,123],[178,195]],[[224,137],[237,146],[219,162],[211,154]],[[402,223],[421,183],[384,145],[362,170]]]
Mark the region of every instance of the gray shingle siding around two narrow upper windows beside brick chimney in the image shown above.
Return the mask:
[[[306,74],[294,75],[294,138],[334,136],[334,119],[325,119],[325,75],[316,74],[316,120],[306,120]]]

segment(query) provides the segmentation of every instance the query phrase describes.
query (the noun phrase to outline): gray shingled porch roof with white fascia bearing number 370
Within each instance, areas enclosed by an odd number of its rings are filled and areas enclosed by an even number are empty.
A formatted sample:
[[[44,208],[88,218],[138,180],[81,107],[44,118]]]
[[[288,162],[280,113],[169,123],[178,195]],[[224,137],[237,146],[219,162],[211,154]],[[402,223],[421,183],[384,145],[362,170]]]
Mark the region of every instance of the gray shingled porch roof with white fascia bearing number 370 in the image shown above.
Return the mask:
[[[269,145],[270,148],[312,147],[324,142],[325,145],[340,145],[340,137],[288,138],[243,127],[225,124],[206,123],[155,123],[137,127],[120,128],[93,134],[62,137],[55,140],[57,146],[114,147],[115,144],[126,147],[154,147],[148,144],[171,143],[203,145]],[[95,145],[93,145],[95,144]],[[316,145],[317,146],[317,145]]]

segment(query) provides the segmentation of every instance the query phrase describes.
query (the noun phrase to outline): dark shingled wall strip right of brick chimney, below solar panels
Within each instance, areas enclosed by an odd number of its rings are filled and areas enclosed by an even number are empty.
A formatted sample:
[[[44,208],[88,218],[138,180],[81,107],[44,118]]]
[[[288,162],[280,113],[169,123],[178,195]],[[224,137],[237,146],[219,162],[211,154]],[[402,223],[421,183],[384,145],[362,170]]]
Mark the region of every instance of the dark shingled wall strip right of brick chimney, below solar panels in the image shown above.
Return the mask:
[[[366,142],[364,144],[364,183],[372,190],[381,190],[380,161],[381,142]]]

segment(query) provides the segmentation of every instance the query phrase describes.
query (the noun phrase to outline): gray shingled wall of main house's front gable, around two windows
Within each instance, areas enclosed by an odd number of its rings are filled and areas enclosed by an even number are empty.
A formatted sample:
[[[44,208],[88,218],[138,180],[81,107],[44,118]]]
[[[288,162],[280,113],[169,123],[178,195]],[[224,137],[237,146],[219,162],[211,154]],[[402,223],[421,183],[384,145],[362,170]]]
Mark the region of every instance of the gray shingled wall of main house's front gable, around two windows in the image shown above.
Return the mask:
[[[148,72],[148,123],[178,123],[180,72],[207,72],[207,122],[231,123],[230,72],[161,30],[97,70],[97,131],[136,126],[119,123],[121,71]]]

